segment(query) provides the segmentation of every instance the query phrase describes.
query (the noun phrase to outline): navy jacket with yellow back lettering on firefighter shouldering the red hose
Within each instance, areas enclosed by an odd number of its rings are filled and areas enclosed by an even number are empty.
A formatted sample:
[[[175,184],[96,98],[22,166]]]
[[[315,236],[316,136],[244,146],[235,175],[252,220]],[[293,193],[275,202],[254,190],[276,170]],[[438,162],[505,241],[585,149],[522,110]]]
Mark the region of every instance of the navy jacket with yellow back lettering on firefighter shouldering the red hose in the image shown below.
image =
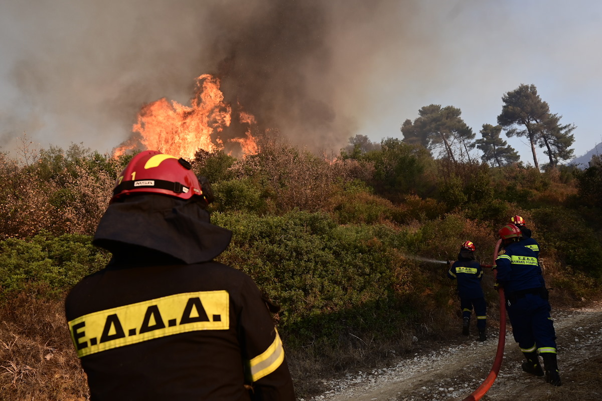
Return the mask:
[[[504,286],[506,296],[514,291],[544,286],[537,254],[526,247],[524,241],[509,244],[495,259],[497,281]]]

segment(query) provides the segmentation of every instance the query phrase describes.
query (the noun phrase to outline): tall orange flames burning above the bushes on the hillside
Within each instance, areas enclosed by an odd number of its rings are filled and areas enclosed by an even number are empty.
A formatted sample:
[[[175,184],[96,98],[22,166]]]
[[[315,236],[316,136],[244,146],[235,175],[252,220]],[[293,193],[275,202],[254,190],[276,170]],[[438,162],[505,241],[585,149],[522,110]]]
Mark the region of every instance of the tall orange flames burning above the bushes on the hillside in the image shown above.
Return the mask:
[[[132,149],[152,149],[190,160],[199,149],[213,152],[232,143],[240,144],[243,155],[255,154],[257,143],[251,134],[255,117],[244,111],[236,112],[235,118],[246,131],[222,138],[220,134],[232,122],[232,106],[224,102],[220,81],[210,74],[203,74],[196,79],[196,86],[191,106],[175,100],[169,102],[166,98],[144,105],[132,128],[137,134],[116,148],[114,155]],[[237,106],[240,110],[240,105]]]

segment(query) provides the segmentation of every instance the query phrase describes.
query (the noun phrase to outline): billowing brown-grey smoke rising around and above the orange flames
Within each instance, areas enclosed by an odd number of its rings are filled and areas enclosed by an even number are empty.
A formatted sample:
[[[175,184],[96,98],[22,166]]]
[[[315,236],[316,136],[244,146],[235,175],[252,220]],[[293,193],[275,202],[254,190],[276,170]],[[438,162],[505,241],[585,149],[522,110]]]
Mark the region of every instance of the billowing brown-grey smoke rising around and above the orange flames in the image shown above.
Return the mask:
[[[0,22],[13,41],[2,46],[11,47],[16,58],[8,66],[12,96],[4,97],[0,112],[9,101],[11,107],[20,103],[13,120],[37,125],[5,120],[2,145],[31,130],[29,136],[43,143],[111,149],[131,135],[144,103],[166,97],[187,104],[194,79],[210,73],[222,80],[226,100],[255,115],[259,127],[277,128],[297,145],[337,151],[361,118],[356,110],[370,82],[371,56],[382,46],[369,27],[399,22],[386,17],[393,12],[390,2],[386,12],[381,3],[43,0],[5,5],[4,15],[11,18]],[[232,136],[238,134],[236,124],[230,129]]]

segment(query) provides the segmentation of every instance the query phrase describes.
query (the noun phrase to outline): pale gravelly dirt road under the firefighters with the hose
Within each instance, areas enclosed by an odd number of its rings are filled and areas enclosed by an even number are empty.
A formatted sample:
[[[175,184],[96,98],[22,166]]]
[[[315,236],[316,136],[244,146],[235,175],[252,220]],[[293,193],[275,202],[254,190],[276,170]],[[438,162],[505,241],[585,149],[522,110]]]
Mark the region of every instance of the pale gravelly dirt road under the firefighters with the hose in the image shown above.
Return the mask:
[[[584,361],[600,363],[602,371],[602,302],[578,310],[553,310],[551,315],[557,335],[561,388],[566,391],[567,385],[578,384]],[[482,400],[532,400],[541,399],[542,394],[549,397],[545,399],[554,399],[554,392],[559,388],[521,370],[523,356],[511,330],[511,327],[506,330],[500,374]],[[474,336],[454,339],[450,345],[400,359],[393,366],[329,381],[326,383],[329,390],[312,400],[463,400],[479,387],[491,370],[497,340],[498,333],[490,333],[484,343],[477,342]],[[582,401],[602,400],[602,394],[597,391],[597,387],[592,387],[588,393],[591,399]]]

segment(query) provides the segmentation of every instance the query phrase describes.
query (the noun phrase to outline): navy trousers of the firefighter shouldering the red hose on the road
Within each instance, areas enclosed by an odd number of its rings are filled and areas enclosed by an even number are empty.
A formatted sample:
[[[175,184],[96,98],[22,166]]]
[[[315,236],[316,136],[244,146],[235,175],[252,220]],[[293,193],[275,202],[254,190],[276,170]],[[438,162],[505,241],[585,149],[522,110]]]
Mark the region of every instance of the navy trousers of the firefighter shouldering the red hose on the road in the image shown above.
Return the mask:
[[[556,354],[556,333],[550,318],[550,303],[536,294],[506,301],[514,340],[523,352]]]

